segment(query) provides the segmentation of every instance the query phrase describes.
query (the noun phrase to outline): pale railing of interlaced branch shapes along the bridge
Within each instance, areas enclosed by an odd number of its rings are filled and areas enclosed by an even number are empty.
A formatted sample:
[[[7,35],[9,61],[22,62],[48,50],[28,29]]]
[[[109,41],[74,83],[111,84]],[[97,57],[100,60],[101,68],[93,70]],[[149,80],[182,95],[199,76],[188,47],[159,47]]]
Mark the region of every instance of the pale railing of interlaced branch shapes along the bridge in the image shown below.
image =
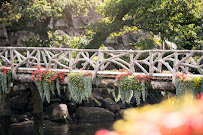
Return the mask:
[[[153,76],[168,70],[195,71],[203,75],[203,50],[96,50],[38,47],[0,47],[0,66],[17,71],[33,71],[43,66],[63,72],[92,70],[94,77],[105,70],[125,69]]]

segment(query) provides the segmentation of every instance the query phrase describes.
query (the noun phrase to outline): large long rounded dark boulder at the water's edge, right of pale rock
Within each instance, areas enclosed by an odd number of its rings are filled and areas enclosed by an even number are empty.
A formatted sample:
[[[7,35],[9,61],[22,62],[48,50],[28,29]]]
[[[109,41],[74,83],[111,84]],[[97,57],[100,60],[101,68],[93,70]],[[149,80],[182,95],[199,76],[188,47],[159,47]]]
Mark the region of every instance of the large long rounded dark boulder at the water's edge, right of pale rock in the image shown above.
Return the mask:
[[[79,122],[105,122],[113,121],[114,114],[107,109],[100,107],[79,107],[75,117]]]

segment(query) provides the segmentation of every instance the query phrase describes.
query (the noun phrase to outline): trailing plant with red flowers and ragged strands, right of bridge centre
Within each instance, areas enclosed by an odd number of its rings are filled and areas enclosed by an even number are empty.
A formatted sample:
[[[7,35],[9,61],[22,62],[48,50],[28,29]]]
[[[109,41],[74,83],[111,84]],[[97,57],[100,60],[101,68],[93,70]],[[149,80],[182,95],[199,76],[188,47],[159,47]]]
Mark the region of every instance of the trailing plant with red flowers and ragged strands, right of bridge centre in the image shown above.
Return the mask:
[[[121,73],[116,76],[116,86],[118,89],[113,91],[115,101],[120,99],[129,103],[134,96],[136,98],[137,105],[140,104],[141,96],[143,101],[147,97],[147,82],[150,81],[148,75],[136,75],[132,76],[129,73]]]

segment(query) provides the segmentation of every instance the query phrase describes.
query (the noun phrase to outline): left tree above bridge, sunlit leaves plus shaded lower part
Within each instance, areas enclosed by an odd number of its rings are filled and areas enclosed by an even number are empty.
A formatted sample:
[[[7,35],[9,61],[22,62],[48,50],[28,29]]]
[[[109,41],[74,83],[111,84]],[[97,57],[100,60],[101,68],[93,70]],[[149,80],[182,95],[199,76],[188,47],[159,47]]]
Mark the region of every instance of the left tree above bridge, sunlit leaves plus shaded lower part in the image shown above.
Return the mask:
[[[47,39],[50,19],[71,13],[87,13],[91,4],[86,0],[10,0],[1,3],[0,22],[12,28],[31,30]],[[31,26],[27,27],[27,25]]]

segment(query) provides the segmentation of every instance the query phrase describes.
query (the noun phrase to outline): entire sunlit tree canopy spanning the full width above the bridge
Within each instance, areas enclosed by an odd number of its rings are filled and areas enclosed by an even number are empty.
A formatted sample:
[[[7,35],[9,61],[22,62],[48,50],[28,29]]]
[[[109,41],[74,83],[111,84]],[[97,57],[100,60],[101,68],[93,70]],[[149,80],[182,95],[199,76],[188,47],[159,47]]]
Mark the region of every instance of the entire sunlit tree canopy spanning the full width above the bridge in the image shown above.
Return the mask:
[[[200,49],[201,0],[3,0],[0,23],[31,30],[48,38],[51,18],[85,14],[93,7],[103,19],[88,29],[93,38],[86,48],[99,48],[115,32],[143,30],[175,42],[179,48]],[[32,27],[27,27],[28,22]]]

